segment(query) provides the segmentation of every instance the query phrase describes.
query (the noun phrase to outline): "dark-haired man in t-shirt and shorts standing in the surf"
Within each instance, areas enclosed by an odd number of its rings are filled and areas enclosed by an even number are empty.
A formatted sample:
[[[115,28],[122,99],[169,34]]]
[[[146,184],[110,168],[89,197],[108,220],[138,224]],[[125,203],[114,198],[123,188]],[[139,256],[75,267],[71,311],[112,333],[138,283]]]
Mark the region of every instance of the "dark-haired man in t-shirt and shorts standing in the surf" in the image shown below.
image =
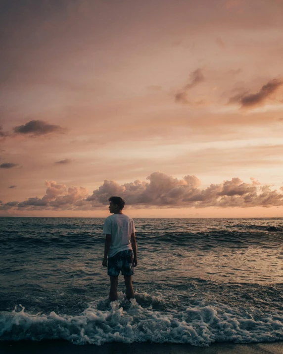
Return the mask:
[[[121,197],[109,198],[109,211],[112,215],[106,217],[103,234],[106,235],[103,267],[107,267],[110,276],[110,301],[118,299],[117,287],[120,271],[124,275],[126,296],[133,299],[134,289],[132,275],[138,264],[135,225],[131,217],[122,213],[125,201]],[[107,266],[108,255],[108,266]]]

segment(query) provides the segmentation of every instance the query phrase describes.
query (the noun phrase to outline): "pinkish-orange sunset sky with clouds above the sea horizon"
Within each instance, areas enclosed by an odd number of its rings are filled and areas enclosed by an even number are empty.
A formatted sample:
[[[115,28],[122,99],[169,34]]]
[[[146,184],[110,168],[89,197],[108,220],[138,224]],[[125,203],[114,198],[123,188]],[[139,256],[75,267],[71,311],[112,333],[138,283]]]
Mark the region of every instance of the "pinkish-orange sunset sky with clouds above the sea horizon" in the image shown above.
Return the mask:
[[[283,0],[0,0],[0,216],[283,217]]]

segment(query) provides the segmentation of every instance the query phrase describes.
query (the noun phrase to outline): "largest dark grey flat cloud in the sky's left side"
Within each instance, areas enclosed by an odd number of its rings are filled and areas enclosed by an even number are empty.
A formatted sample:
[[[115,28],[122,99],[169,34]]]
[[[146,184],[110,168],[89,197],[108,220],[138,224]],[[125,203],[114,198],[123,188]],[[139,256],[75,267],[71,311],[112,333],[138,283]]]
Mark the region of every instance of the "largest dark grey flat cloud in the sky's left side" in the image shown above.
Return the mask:
[[[43,120],[31,120],[26,124],[13,128],[17,134],[31,134],[34,136],[46,135],[49,133],[63,133],[64,128],[59,125],[48,124]]]

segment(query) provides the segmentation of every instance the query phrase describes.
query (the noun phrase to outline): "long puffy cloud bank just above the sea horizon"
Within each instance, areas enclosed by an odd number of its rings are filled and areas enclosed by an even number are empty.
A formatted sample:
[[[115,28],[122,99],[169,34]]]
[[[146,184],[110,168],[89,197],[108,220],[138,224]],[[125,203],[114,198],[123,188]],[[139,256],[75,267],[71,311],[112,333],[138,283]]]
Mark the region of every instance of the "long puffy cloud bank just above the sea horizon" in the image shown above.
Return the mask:
[[[92,195],[84,187],[71,186],[47,181],[47,190],[42,198],[32,197],[23,202],[1,203],[0,209],[17,210],[100,210],[108,204],[110,196],[120,196],[131,208],[205,208],[205,207],[271,207],[283,205],[283,193],[261,186],[251,178],[245,183],[232,178],[220,184],[200,188],[196,176],[187,175],[182,179],[162,172],[153,172],[147,181],[118,184],[105,180]]]

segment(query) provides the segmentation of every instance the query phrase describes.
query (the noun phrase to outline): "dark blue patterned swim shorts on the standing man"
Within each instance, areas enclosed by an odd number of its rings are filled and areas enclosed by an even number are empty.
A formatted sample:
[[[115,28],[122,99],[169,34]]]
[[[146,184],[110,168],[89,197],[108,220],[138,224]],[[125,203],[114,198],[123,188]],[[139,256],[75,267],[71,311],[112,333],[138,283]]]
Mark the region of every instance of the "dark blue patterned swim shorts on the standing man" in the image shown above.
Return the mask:
[[[133,250],[125,250],[116,253],[113,257],[108,258],[107,274],[117,277],[122,270],[122,275],[134,274],[134,252]]]

